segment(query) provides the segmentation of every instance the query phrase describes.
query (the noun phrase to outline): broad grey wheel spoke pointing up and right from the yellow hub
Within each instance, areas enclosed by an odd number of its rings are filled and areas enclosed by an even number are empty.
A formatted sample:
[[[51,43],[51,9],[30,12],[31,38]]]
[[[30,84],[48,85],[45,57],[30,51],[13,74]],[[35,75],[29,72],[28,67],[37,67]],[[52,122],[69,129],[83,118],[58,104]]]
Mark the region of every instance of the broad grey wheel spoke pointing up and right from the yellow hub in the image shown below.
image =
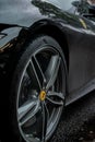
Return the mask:
[[[47,80],[46,85],[47,90],[54,85],[58,75],[59,67],[60,67],[60,57],[52,56],[45,73]]]

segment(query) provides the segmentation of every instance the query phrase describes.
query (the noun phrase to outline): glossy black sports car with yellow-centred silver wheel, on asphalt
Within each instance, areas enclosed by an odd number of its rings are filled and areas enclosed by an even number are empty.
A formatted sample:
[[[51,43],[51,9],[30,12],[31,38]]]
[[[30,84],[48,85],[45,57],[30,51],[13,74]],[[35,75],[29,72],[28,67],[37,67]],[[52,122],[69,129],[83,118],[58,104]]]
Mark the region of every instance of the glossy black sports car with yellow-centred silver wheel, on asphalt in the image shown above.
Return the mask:
[[[93,90],[94,5],[86,0],[0,0],[2,141],[47,142],[64,106]]]

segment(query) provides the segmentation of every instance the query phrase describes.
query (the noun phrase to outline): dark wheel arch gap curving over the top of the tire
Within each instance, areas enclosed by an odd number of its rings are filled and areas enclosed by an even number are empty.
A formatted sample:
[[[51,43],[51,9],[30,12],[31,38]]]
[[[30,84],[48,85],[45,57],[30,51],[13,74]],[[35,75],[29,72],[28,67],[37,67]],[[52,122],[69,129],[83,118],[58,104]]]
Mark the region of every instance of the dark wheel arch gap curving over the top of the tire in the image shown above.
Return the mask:
[[[56,22],[50,20],[41,20],[34,23],[31,27],[22,28],[17,36],[16,44],[13,44],[14,47],[10,54],[13,57],[15,52],[19,55],[21,50],[24,50],[24,44],[28,43],[29,39],[33,40],[38,35],[51,36],[59,43],[66,58],[67,68],[69,69],[69,48],[67,37],[61,28],[56,24]]]

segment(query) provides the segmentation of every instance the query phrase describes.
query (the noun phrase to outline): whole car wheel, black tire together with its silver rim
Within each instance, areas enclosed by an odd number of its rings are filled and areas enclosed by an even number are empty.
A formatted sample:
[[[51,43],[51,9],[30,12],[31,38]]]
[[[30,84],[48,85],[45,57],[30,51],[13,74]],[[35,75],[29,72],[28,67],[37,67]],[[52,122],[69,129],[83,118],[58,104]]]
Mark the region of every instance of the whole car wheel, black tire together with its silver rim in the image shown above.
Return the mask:
[[[66,60],[52,37],[40,35],[27,44],[10,88],[9,141],[48,141],[59,123],[66,95]]]

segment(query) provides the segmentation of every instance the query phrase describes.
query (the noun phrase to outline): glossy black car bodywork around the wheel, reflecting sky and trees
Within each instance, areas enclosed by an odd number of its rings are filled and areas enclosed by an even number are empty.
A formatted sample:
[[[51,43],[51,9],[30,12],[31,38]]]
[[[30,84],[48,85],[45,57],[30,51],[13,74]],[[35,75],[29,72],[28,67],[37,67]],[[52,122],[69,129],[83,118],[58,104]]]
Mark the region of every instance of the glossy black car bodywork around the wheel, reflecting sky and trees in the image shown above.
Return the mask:
[[[63,11],[51,0],[0,0],[1,76],[17,47],[23,50],[27,37],[45,33],[58,39],[67,59],[67,104],[95,90],[95,22],[75,14],[74,5]]]

